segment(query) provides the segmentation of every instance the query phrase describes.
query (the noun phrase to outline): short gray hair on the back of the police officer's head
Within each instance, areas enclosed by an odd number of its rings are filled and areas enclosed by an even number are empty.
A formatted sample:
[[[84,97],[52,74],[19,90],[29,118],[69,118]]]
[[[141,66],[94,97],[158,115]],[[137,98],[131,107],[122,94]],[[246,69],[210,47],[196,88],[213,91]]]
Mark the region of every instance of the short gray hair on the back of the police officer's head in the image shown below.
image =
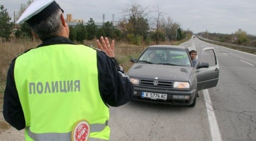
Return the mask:
[[[62,11],[58,8],[49,17],[45,18],[39,24],[31,27],[40,40],[44,40],[61,33],[61,15]]]

